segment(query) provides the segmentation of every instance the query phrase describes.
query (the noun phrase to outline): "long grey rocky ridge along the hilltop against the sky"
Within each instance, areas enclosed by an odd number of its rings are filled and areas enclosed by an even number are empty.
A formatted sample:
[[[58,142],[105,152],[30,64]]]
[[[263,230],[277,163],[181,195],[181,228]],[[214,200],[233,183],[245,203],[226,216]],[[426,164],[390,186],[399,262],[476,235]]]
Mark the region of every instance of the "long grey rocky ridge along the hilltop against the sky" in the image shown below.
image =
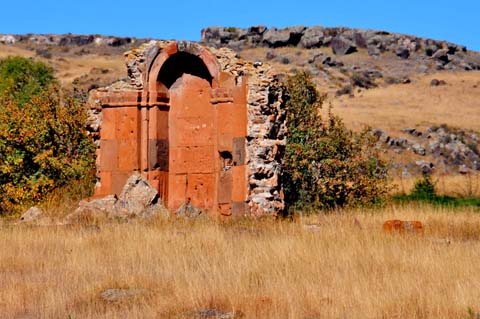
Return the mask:
[[[209,46],[235,50],[255,47],[330,47],[337,55],[366,49],[371,56],[391,52],[399,59],[407,60],[415,56],[433,60],[437,69],[480,70],[480,62],[470,59],[465,46],[385,31],[321,26],[284,29],[268,29],[265,26],[248,29],[209,27],[202,30],[201,41]]]

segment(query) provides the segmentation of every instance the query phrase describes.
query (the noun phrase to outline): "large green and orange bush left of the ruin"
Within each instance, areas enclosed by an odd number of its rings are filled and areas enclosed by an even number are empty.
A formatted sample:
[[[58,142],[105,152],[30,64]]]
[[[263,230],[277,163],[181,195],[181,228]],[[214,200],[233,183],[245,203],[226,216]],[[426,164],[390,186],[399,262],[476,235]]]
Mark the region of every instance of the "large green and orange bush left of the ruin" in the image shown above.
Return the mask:
[[[93,181],[95,147],[85,119],[49,66],[24,58],[0,61],[1,214],[73,181]]]

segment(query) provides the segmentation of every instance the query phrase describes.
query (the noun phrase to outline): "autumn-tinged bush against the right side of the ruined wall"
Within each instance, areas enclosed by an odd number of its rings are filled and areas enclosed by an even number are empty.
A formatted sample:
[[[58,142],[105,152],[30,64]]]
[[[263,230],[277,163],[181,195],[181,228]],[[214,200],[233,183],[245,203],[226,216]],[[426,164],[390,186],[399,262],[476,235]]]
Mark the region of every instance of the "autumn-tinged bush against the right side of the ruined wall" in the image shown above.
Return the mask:
[[[283,183],[287,211],[377,203],[388,192],[387,163],[369,130],[354,133],[329,108],[306,73],[286,86],[287,146]]]

